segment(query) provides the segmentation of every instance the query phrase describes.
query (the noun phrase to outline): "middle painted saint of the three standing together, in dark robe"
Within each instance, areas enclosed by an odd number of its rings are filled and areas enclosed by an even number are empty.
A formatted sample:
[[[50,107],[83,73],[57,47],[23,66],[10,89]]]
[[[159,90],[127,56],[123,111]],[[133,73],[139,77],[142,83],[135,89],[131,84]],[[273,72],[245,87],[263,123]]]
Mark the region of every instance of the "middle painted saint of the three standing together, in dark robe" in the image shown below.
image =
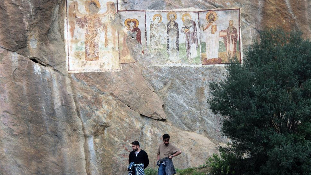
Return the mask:
[[[166,25],[167,52],[169,54],[169,59],[173,62],[177,62],[179,57],[179,29],[175,21],[177,19],[176,12],[169,12],[167,14],[167,19],[169,20]]]

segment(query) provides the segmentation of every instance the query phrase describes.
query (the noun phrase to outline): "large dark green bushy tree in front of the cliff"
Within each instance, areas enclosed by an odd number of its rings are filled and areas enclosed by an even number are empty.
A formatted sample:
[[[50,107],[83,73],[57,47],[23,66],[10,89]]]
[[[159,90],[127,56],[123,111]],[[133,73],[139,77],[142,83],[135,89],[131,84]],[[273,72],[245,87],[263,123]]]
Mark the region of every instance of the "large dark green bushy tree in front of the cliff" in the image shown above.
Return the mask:
[[[260,33],[241,65],[210,84],[228,147],[210,159],[214,174],[311,174],[311,43],[301,33]]]

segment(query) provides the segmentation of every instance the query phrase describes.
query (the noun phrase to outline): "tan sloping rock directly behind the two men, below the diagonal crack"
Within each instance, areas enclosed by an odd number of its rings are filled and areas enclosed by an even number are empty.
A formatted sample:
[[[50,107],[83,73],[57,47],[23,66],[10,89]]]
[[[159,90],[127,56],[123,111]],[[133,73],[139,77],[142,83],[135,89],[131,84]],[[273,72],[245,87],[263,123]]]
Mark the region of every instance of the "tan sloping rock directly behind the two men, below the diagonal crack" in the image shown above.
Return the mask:
[[[169,133],[171,143],[183,151],[174,160],[177,168],[202,165],[216,152],[216,145],[202,134],[143,117],[117,98],[84,83],[75,81],[72,85],[86,140],[84,151],[89,174],[126,173],[134,140],[139,140],[141,148],[148,153],[149,167],[156,168],[156,151],[163,133]]]

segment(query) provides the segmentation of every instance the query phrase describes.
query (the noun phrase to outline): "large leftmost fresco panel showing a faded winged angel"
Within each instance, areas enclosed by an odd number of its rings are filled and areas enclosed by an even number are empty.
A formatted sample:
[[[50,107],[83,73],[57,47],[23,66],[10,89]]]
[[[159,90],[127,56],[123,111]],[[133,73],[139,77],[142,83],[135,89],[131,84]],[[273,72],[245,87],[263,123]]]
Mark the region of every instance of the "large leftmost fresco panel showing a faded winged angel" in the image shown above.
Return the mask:
[[[68,71],[121,70],[116,2],[67,0],[66,5]]]

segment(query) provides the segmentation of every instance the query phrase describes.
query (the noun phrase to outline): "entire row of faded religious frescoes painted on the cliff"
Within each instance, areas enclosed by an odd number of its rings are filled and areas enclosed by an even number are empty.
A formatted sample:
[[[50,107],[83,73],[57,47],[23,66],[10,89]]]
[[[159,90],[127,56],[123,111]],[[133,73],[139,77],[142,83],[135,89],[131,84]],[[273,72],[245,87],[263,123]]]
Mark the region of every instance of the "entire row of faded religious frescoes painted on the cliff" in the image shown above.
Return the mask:
[[[128,11],[116,4],[67,0],[68,71],[119,71],[146,51],[161,55],[152,64],[241,62],[239,9]]]

